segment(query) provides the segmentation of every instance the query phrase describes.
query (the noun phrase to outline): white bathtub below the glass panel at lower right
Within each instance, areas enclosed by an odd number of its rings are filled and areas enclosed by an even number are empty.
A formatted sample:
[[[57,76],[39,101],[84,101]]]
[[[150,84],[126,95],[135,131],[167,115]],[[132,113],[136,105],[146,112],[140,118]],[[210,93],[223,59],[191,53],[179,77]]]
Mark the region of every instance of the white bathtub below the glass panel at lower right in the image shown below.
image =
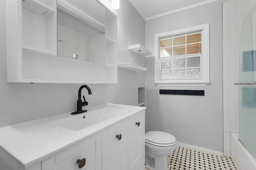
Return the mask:
[[[256,159],[238,141],[238,133],[230,134],[230,157],[237,170],[256,170]]]

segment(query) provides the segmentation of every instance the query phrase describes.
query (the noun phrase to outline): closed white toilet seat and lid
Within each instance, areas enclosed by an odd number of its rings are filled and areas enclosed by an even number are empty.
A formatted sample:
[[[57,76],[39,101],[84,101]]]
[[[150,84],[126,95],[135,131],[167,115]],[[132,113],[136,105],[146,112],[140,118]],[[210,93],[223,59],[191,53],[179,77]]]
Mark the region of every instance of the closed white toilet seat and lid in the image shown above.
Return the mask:
[[[176,144],[176,138],[170,133],[148,131],[145,135],[145,142],[158,147],[170,147]]]

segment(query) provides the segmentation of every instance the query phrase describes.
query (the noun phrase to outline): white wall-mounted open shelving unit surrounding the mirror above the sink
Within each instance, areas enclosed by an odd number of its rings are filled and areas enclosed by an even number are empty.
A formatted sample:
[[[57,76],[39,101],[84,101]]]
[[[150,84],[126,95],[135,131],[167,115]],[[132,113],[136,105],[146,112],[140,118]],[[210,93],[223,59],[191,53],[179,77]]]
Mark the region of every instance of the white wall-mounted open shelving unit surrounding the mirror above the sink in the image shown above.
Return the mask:
[[[85,16],[106,32],[106,65],[56,57],[57,0],[7,0],[7,81],[36,83],[117,83],[117,17],[106,8],[106,26]],[[46,13],[46,14],[43,14]],[[22,28],[22,29],[21,29]]]

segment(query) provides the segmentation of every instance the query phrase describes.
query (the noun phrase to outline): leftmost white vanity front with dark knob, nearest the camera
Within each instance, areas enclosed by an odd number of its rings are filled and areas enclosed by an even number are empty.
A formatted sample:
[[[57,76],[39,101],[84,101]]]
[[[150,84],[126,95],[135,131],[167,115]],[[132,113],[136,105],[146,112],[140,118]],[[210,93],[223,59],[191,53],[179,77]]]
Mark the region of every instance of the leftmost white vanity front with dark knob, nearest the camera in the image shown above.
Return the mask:
[[[96,137],[90,137],[58,154],[55,170],[95,170]],[[85,158],[85,165],[79,168],[78,160]],[[83,160],[84,161],[84,160]],[[82,163],[81,163],[82,164]]]

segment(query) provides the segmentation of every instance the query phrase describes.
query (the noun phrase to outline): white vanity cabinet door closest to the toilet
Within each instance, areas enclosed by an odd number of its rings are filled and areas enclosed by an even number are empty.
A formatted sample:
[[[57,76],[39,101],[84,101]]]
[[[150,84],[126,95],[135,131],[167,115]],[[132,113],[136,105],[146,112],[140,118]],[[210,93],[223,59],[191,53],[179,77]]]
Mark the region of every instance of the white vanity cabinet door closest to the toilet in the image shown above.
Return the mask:
[[[128,119],[128,167],[134,170],[145,156],[144,142],[144,112],[140,112]]]

